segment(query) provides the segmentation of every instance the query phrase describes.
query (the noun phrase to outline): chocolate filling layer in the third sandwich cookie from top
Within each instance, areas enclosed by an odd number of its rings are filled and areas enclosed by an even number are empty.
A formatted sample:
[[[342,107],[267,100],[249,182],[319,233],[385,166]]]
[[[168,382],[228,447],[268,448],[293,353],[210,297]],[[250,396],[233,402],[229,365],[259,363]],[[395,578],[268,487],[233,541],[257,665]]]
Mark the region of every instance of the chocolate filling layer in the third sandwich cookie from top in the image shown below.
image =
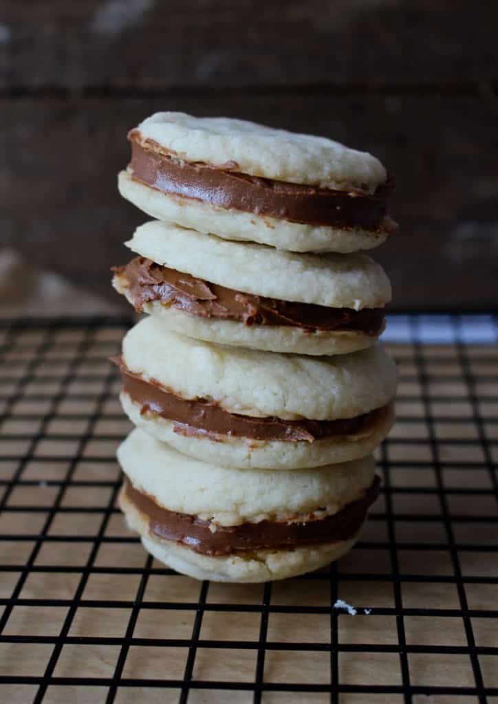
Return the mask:
[[[377,408],[354,418],[339,420],[283,420],[277,417],[254,417],[229,413],[217,401],[198,398],[195,401],[180,398],[158,382],[146,382],[133,374],[116,358],[123,377],[123,391],[141,407],[141,413],[153,413],[175,423],[175,432],[185,435],[204,435],[217,440],[223,436],[254,440],[282,440],[313,442],[322,438],[355,435],[375,427],[386,408]]]

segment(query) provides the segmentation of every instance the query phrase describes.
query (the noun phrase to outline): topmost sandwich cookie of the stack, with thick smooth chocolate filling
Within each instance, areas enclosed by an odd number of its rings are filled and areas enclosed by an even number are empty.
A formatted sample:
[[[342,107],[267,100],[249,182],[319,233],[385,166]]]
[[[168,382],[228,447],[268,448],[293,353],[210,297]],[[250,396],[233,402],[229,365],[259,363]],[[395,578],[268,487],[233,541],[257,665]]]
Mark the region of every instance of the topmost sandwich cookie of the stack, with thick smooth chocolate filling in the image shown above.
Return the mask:
[[[380,161],[331,139],[185,113],[128,139],[120,193],[158,220],[301,252],[371,249],[397,230]]]

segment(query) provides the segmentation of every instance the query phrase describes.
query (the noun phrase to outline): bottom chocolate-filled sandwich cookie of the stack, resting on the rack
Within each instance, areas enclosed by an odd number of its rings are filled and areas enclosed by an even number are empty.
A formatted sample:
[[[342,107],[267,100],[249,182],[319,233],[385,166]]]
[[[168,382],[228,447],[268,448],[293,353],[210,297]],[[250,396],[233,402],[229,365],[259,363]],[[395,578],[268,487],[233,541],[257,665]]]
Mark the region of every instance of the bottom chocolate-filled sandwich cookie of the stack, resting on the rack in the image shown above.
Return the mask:
[[[379,480],[371,456],[305,471],[201,463],[135,429],[118,449],[120,508],[161,562],[197,579],[266,582],[303,574],[359,537]]]

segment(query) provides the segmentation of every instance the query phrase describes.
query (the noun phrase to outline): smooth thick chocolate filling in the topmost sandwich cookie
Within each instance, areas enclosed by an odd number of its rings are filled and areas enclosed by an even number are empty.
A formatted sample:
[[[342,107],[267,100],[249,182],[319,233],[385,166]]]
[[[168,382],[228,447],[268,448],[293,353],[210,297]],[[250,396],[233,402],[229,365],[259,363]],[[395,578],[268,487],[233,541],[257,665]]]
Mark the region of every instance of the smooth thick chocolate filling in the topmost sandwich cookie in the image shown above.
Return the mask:
[[[148,146],[140,144],[139,132],[135,130],[128,139],[132,144],[128,168],[134,180],[163,193],[278,220],[380,230],[387,214],[387,199],[394,188],[391,177],[371,195],[354,189],[337,191],[275,181],[237,172],[237,164],[219,168],[182,161],[173,153],[156,151],[158,145],[154,142],[149,141]]]

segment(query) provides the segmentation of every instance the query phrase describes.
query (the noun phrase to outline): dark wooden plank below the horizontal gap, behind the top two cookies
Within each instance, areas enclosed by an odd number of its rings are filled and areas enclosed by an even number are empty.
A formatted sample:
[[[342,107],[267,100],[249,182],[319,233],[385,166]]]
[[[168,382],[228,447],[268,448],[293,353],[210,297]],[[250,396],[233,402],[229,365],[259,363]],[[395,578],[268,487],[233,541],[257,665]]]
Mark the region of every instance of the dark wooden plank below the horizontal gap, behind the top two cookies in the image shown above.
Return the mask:
[[[498,299],[496,114],[453,98],[18,100],[1,109],[1,232],[44,267],[113,295],[111,265],[146,218],[119,198],[127,130],[158,109],[225,114],[325,134],[379,156],[397,177],[401,230],[375,250],[403,306],[479,306]]]

